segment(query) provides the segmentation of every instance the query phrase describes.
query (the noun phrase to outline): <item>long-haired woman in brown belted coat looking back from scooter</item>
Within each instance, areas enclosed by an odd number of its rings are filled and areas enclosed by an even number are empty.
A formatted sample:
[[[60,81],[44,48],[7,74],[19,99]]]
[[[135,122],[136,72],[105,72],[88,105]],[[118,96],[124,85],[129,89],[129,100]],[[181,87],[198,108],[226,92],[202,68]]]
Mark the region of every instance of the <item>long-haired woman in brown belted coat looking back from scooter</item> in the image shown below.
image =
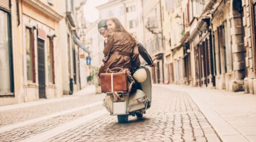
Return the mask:
[[[126,68],[131,69],[130,55],[136,46],[134,37],[125,30],[117,18],[106,21],[108,25],[108,40],[104,47],[104,65],[101,66],[98,76],[105,73],[106,69]],[[139,53],[137,52],[137,55]]]

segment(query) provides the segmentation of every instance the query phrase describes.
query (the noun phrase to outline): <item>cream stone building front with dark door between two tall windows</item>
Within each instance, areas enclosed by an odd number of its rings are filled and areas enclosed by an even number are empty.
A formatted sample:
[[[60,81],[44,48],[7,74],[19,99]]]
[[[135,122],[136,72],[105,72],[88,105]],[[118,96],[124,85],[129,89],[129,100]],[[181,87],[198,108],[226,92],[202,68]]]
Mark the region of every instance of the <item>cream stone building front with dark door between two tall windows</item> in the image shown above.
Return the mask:
[[[22,2],[24,101],[63,95],[61,80],[59,21],[56,11],[42,4]]]

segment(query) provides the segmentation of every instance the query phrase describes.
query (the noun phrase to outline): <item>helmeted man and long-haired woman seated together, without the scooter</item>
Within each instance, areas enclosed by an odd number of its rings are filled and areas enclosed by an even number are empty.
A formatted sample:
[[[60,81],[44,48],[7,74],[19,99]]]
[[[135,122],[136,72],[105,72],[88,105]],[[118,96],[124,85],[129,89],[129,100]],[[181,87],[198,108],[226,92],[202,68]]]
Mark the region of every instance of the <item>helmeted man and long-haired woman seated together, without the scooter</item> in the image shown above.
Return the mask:
[[[125,30],[117,18],[100,20],[98,31],[105,38],[104,59],[102,60],[104,65],[100,67],[98,77],[101,73],[106,73],[113,68],[127,69],[129,73],[134,73],[141,65],[139,55],[148,65],[155,66],[143,45]]]

